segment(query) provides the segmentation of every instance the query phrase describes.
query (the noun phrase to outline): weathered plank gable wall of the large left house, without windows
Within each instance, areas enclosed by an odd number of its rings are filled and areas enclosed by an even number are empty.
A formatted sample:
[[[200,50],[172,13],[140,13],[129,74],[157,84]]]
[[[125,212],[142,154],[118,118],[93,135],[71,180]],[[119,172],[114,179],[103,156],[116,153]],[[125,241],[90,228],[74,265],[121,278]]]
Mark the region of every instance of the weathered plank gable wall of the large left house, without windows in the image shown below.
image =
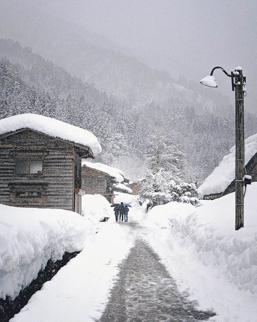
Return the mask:
[[[25,130],[0,138],[0,203],[74,210],[75,148]],[[15,157],[43,159],[43,175],[15,175]],[[42,191],[42,198],[15,197],[15,190]]]

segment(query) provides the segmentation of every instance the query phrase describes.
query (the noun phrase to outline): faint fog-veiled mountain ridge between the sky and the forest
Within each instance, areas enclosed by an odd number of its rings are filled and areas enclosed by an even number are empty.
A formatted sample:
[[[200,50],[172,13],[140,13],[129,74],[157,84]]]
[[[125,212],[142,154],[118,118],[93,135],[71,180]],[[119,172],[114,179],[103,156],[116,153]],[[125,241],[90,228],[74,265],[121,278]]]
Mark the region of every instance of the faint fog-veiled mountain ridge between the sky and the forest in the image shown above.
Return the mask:
[[[56,46],[57,44],[55,44]],[[214,93],[218,99],[205,98],[202,93],[192,90],[195,87],[194,84],[186,81],[185,78],[181,78],[178,83],[175,83],[167,72],[153,70],[146,64],[121,52],[96,46],[95,42],[92,46],[83,45],[81,42],[75,47],[71,46],[69,42],[62,45],[58,43],[58,46],[64,48],[56,54],[59,64],[71,75],[74,75],[74,77],[76,75],[81,79],[80,81],[75,77],[75,82],[80,83],[79,88],[84,87],[84,82],[91,84],[91,87],[93,83],[99,90],[105,91],[108,95],[116,96],[120,100],[125,99],[131,106],[138,108],[154,101],[164,109],[169,108],[170,105],[178,109],[185,105],[194,106],[195,111],[199,114],[210,112],[218,115],[221,110],[224,113],[224,105],[226,106],[225,113],[231,110],[227,103],[228,100],[220,93]],[[71,55],[73,59],[70,59]],[[0,56],[6,56],[11,62],[23,66],[24,75],[22,75],[22,78],[28,84],[33,83],[33,86],[38,90],[44,88],[60,98],[65,98],[68,93],[75,90],[70,87],[70,76],[67,76],[65,70],[33,53],[29,47],[22,48],[18,42],[1,39]],[[48,89],[47,80],[40,84],[39,80],[32,79],[33,76],[29,75],[31,67],[44,71],[46,64],[50,71],[55,70],[55,73],[62,74],[62,77],[66,78],[67,84],[63,84],[56,89],[50,87]],[[66,76],[64,76],[65,73]],[[52,77],[51,73],[46,75],[49,80]],[[58,83],[58,79],[56,79],[56,82]],[[77,86],[76,90],[78,90]]]

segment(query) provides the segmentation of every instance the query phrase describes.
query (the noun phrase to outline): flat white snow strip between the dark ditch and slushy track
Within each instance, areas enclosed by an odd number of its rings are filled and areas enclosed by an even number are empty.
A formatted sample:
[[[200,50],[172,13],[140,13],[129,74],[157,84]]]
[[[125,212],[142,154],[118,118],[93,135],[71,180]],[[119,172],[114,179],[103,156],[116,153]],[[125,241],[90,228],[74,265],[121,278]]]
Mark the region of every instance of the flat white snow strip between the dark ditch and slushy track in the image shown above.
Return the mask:
[[[112,208],[111,208],[112,209]],[[83,218],[83,217],[82,217]],[[10,322],[94,322],[107,305],[118,263],[133,246],[133,236],[113,220],[88,240],[83,251],[62,267]]]

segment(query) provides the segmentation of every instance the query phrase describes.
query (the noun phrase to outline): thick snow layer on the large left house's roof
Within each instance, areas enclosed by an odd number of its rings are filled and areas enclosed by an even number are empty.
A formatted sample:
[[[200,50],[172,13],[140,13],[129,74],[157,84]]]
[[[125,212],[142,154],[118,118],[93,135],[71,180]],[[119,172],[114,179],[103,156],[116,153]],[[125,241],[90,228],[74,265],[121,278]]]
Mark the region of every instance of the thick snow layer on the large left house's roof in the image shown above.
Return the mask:
[[[19,114],[0,120],[0,134],[22,128],[30,128],[51,137],[59,137],[63,140],[82,144],[90,147],[94,155],[102,151],[97,138],[91,132],[54,118],[38,114]]]

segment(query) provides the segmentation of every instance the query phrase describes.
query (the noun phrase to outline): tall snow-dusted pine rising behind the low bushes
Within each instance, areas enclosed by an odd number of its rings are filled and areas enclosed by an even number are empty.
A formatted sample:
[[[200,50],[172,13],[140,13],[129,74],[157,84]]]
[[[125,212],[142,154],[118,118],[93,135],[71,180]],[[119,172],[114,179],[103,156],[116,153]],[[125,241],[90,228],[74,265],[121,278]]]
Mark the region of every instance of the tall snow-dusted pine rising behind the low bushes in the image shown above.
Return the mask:
[[[162,130],[155,130],[149,137],[146,156],[149,169],[155,172],[160,169],[169,171],[175,180],[184,176],[185,154],[174,143],[172,135],[166,134]]]

